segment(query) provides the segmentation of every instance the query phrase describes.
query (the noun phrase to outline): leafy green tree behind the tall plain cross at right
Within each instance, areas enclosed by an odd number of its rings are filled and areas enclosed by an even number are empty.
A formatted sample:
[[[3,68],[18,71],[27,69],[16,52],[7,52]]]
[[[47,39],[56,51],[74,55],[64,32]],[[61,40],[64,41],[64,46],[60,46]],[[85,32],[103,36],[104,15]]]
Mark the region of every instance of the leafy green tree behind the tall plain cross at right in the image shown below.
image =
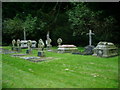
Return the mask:
[[[86,3],[72,3],[73,9],[67,12],[69,22],[73,29],[73,35],[79,36],[82,40],[86,33],[91,29],[96,34],[96,42],[110,41],[114,35],[112,31],[115,29],[116,20],[112,16],[104,17],[102,10],[92,11],[86,6]]]

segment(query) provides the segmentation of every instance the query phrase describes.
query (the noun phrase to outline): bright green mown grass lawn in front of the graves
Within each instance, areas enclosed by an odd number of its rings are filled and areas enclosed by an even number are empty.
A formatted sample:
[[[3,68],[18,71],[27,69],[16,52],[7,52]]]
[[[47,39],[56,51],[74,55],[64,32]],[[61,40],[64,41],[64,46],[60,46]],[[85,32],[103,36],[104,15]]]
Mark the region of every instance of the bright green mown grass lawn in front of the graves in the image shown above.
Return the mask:
[[[9,49],[10,47],[4,47]],[[79,48],[83,50],[83,48]],[[25,54],[25,49],[22,50]],[[118,57],[45,52],[53,60],[30,62],[2,54],[3,88],[118,88]],[[37,50],[31,56],[37,56]]]

